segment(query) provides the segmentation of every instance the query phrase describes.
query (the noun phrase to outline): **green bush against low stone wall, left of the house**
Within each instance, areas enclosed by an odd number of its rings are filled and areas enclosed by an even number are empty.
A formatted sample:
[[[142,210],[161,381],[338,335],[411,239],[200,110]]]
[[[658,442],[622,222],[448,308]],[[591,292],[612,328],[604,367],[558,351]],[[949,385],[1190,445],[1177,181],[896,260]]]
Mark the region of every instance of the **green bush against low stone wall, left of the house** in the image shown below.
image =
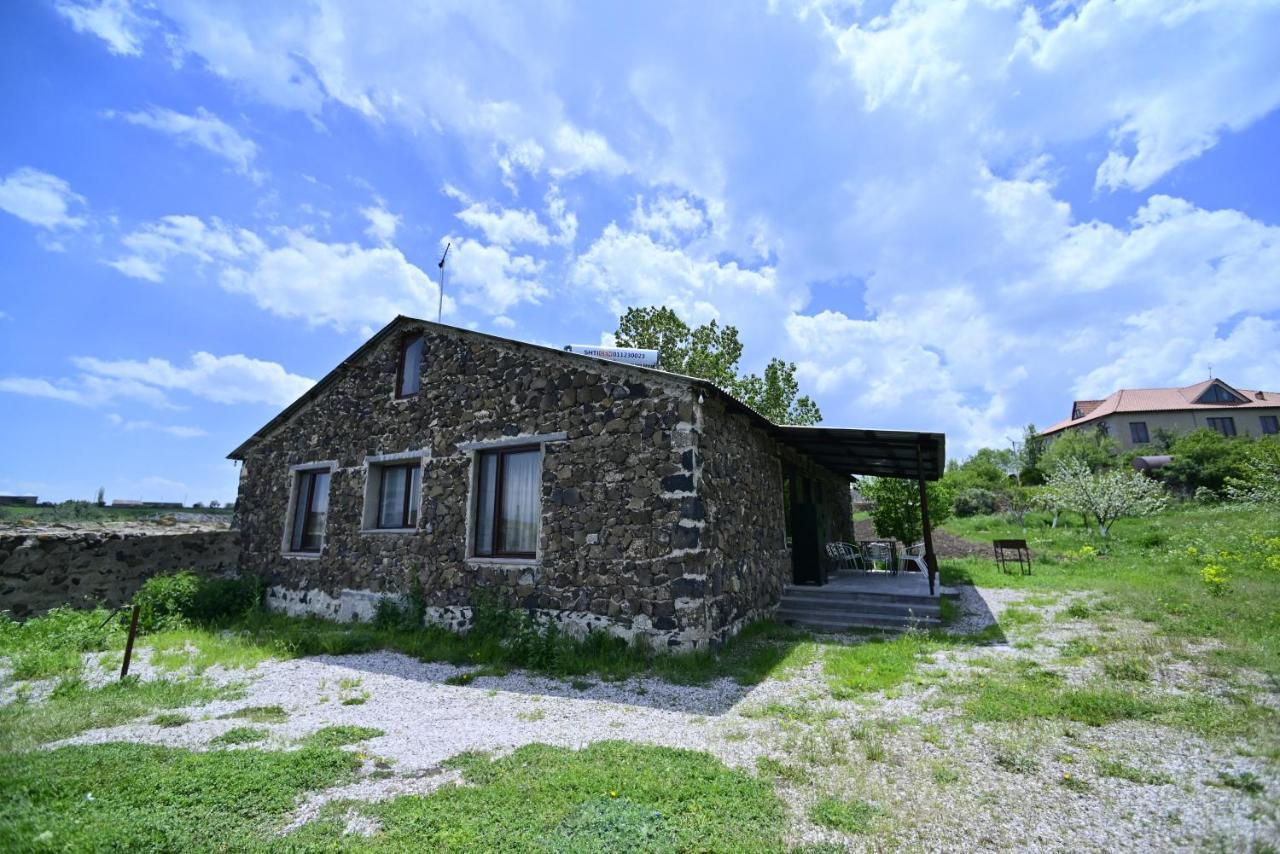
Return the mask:
[[[239,617],[261,600],[262,585],[253,576],[201,579],[191,570],[152,576],[133,597],[143,632]]]

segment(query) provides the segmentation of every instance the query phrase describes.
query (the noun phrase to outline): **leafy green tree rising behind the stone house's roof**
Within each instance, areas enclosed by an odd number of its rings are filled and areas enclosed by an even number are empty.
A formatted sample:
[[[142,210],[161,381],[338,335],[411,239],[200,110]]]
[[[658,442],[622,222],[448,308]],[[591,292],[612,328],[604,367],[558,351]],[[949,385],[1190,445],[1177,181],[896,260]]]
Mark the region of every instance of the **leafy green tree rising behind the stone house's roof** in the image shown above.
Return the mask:
[[[618,319],[614,341],[618,347],[657,350],[663,370],[710,380],[776,424],[822,421],[818,405],[800,396],[795,362],[771,359],[763,376],[739,375],[742,342],[736,326],[712,320],[690,329],[666,306],[631,307]]]

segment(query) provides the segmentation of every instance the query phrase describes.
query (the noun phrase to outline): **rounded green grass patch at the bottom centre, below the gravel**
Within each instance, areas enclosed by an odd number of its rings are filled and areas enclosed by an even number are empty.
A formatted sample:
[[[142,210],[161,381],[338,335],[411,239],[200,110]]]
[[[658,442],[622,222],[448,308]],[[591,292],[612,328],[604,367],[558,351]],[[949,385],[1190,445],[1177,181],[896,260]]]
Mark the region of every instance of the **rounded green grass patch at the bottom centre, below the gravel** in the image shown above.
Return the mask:
[[[527,745],[451,762],[468,785],[376,804],[338,803],[296,832],[301,850],[337,846],[348,809],[381,832],[362,850],[782,851],[773,786],[705,753],[603,741]]]

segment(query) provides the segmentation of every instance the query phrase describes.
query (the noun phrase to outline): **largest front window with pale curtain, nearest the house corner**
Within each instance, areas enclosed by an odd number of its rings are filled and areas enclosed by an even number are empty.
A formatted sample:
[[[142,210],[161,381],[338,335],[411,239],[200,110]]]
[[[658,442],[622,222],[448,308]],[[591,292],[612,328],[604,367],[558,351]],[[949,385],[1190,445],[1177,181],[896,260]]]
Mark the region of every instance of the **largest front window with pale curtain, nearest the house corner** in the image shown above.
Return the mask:
[[[538,447],[476,453],[476,556],[534,557],[538,553],[541,469]]]

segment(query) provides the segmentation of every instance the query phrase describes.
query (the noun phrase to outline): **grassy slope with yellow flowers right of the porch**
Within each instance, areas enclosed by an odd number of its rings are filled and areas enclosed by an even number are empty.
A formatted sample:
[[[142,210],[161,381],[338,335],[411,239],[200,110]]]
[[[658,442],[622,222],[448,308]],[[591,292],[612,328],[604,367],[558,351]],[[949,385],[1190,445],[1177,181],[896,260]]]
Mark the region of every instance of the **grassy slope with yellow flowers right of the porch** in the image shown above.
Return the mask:
[[[1034,565],[1024,576],[1005,575],[986,557],[947,560],[943,583],[1101,593],[1107,608],[1149,622],[1167,638],[1221,641],[1222,649],[1207,653],[1211,659],[1280,676],[1280,572],[1268,567],[1280,554],[1280,513],[1274,508],[1179,504],[1157,516],[1120,520],[1107,538],[1079,519],[1066,521],[1069,528],[1055,530],[1047,515],[1032,513],[1024,531],[995,516],[951,520],[950,533],[977,542],[1025,536]],[[1221,595],[1201,579],[1207,563],[1226,568]],[[1068,612],[1093,616],[1083,603]]]

